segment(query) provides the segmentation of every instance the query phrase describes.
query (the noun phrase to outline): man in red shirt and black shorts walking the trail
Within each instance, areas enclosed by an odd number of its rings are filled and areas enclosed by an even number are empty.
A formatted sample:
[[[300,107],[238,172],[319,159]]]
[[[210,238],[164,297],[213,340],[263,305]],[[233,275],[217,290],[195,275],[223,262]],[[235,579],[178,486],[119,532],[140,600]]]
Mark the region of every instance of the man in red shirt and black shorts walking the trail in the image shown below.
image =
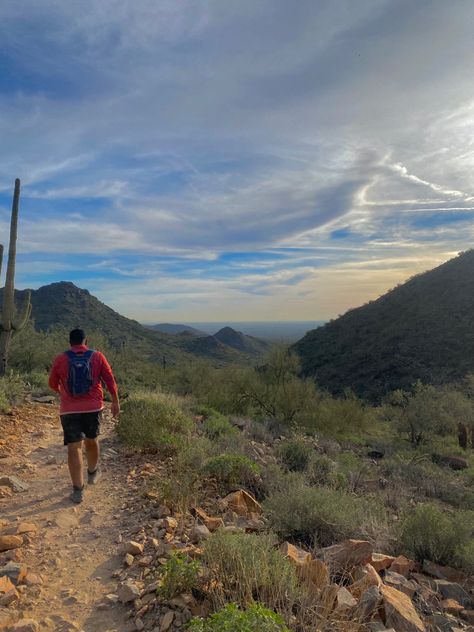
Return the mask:
[[[73,485],[70,499],[80,503],[84,493],[83,442],[86,448],[88,484],[95,485],[100,476],[98,436],[104,409],[101,381],[105,382],[112,397],[113,417],[120,413],[120,404],[117,384],[105,356],[100,351],[88,348],[86,334],[82,329],[71,331],[69,343],[71,348],[54,359],[49,386],[61,398],[61,424]]]

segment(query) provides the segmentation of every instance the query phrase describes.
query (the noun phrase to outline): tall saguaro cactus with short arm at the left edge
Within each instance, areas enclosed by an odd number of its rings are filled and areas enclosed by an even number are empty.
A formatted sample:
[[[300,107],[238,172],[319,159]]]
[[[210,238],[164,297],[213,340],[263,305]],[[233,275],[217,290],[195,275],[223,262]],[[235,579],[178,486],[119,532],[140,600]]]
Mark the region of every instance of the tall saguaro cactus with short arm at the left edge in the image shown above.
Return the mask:
[[[23,309],[15,314],[15,259],[16,238],[18,234],[18,205],[20,201],[20,180],[15,180],[12,217],[10,222],[10,245],[8,248],[7,276],[3,290],[2,314],[0,317],[0,375],[5,375],[8,364],[8,351],[12,335],[21,331],[31,314],[31,294],[26,293]],[[0,250],[0,273],[2,268],[3,246]]]

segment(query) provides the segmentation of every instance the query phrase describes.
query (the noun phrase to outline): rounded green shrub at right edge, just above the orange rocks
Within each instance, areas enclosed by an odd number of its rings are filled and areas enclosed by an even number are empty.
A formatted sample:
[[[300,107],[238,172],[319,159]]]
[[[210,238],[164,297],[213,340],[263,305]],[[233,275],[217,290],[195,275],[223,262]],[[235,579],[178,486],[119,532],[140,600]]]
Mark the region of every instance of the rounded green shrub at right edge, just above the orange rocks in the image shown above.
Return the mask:
[[[459,553],[472,538],[472,514],[457,512],[450,516],[436,505],[418,505],[405,518],[400,542],[416,560],[438,564],[456,564]]]

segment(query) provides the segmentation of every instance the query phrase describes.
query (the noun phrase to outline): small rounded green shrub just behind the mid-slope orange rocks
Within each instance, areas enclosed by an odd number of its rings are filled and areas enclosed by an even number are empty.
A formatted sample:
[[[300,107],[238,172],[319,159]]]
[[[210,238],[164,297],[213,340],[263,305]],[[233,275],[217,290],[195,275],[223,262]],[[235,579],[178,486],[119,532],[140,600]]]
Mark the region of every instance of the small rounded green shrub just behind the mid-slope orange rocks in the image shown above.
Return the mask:
[[[260,467],[241,454],[220,454],[209,459],[202,469],[215,478],[225,491],[237,486],[253,488],[260,474]]]

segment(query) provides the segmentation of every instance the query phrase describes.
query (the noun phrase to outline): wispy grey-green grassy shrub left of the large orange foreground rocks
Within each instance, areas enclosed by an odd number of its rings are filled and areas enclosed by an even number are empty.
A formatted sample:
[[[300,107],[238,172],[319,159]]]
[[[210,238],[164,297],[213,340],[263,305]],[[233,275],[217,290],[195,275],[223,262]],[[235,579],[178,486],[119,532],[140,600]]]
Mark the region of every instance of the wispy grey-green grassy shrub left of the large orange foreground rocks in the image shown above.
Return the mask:
[[[211,597],[217,607],[234,602],[245,607],[254,600],[282,614],[302,597],[295,567],[275,548],[272,534],[213,534],[204,544],[203,560],[215,582]]]

